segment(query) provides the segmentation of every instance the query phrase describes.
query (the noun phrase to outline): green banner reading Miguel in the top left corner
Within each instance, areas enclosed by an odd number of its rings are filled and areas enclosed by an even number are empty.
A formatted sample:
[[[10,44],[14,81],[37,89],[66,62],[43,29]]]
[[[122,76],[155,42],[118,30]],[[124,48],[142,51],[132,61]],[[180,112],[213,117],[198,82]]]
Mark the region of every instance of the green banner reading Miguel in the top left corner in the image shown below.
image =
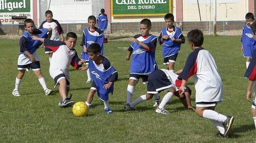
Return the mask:
[[[2,12],[30,12],[30,0],[0,0]]]

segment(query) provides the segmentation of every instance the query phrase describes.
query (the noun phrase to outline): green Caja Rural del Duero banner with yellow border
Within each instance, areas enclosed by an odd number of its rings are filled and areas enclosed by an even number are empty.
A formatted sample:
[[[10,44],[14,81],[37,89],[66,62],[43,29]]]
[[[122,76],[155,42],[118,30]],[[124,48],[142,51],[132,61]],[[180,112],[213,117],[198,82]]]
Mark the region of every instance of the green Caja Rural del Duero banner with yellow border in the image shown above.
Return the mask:
[[[171,12],[171,0],[111,0],[112,16],[155,16]]]

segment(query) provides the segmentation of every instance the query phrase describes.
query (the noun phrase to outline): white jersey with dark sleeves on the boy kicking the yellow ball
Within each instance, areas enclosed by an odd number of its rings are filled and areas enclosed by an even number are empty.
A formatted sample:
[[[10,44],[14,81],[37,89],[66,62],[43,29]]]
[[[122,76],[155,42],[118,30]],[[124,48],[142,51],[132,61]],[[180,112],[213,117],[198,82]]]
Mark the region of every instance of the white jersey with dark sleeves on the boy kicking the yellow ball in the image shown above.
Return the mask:
[[[45,47],[53,50],[53,56],[50,64],[50,75],[54,79],[57,75],[63,73],[69,81],[69,65],[79,68],[80,59],[75,49],[69,49],[65,43],[61,41],[53,41],[45,39]]]

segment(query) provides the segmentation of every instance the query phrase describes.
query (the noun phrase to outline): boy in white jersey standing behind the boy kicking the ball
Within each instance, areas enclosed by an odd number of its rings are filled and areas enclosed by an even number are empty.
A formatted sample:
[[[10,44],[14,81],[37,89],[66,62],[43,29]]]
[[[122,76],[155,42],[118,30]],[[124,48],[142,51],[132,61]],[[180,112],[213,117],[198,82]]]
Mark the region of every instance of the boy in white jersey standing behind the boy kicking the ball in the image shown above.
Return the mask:
[[[53,12],[50,10],[46,11],[45,17],[46,17],[46,20],[41,23],[40,28],[49,28],[49,27],[53,28],[52,36],[50,39],[54,41],[61,40],[62,42],[64,42],[63,29],[61,27],[61,24],[56,19],[53,19]],[[53,51],[50,50],[49,48],[45,48],[45,53],[49,54],[49,62],[51,64]]]

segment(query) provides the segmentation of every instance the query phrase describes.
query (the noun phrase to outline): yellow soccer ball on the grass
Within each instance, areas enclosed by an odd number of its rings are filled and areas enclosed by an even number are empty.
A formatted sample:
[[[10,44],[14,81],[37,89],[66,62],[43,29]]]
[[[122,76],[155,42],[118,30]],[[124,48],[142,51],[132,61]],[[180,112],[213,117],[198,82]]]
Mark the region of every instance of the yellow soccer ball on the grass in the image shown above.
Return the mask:
[[[85,115],[88,113],[89,108],[87,107],[87,105],[85,104],[85,102],[81,102],[81,101],[80,101],[80,102],[77,102],[77,103],[75,103],[75,104],[73,105],[72,111],[73,111],[73,114],[74,114],[75,116],[80,117],[80,116],[85,116]]]

